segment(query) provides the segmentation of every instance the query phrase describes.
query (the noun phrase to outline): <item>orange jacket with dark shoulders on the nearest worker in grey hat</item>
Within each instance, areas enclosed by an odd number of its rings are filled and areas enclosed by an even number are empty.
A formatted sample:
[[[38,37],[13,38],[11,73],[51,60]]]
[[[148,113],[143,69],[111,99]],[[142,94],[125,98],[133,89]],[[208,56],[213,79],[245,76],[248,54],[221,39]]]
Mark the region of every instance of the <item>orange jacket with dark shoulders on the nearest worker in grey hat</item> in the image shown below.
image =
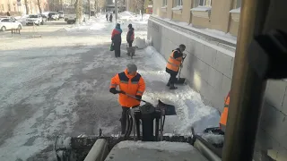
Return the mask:
[[[120,90],[123,90],[126,92],[126,94],[132,96],[143,96],[143,92],[145,90],[143,77],[139,73],[136,73],[135,76],[128,75],[127,70],[125,72],[118,73],[111,79],[110,88],[117,88],[117,85],[119,86]],[[119,94],[118,102],[121,106],[125,107],[140,105],[140,101],[124,94]]]

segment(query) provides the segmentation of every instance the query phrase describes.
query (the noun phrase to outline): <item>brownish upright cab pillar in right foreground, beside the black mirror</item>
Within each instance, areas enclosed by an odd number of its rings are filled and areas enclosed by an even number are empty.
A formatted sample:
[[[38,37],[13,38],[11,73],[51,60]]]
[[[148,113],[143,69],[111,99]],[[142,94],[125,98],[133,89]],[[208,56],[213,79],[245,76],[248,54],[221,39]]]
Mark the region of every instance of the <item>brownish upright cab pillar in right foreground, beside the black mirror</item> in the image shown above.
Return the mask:
[[[248,47],[262,34],[270,0],[243,0],[222,161],[251,161],[266,80],[248,64]]]

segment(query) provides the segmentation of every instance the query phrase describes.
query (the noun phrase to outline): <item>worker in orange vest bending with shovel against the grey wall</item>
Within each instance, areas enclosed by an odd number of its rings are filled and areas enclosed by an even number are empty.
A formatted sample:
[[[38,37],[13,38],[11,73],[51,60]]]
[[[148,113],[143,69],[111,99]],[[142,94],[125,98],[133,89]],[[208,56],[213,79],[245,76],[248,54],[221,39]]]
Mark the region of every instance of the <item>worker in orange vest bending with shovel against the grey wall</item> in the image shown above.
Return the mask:
[[[186,50],[186,46],[181,44],[175,50],[172,50],[168,64],[166,66],[166,72],[170,73],[170,80],[167,84],[170,89],[178,89],[174,86],[174,83],[177,81],[177,75],[179,67],[182,67],[183,52]]]

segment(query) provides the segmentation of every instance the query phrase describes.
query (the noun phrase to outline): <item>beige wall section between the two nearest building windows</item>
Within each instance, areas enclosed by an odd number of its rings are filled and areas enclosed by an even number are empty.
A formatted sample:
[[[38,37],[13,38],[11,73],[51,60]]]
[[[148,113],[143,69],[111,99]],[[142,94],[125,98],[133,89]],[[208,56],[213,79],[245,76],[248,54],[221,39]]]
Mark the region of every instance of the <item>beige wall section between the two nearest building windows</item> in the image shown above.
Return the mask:
[[[233,9],[233,0],[216,0],[213,2],[211,28],[228,32],[230,23],[229,12]]]

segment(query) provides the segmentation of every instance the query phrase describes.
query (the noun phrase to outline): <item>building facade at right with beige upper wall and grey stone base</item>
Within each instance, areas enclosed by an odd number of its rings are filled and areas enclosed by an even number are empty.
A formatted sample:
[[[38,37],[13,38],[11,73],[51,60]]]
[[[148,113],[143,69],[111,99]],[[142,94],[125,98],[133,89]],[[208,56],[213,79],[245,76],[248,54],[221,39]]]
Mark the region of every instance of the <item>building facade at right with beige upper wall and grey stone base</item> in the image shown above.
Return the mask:
[[[287,1],[271,3],[270,11],[274,6],[285,11]],[[221,112],[230,91],[240,7],[241,0],[156,0],[148,22],[148,39],[165,59],[180,44],[187,46],[181,77],[201,94],[204,104]],[[275,21],[270,24],[287,31],[282,27],[285,20],[278,17],[270,15],[268,20]],[[287,80],[269,80],[257,133],[256,161],[287,160],[286,117]]]

